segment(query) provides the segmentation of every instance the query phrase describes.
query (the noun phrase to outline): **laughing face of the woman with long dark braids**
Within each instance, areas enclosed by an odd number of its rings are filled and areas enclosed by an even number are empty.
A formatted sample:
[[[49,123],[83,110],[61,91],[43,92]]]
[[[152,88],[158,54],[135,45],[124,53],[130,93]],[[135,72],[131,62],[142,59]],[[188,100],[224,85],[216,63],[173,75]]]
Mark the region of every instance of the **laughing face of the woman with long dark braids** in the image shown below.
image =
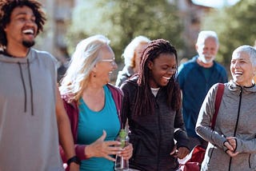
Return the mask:
[[[170,78],[174,76],[177,70],[177,62],[174,54],[159,54],[154,62],[149,62],[150,69],[150,87],[158,88],[166,86]]]

